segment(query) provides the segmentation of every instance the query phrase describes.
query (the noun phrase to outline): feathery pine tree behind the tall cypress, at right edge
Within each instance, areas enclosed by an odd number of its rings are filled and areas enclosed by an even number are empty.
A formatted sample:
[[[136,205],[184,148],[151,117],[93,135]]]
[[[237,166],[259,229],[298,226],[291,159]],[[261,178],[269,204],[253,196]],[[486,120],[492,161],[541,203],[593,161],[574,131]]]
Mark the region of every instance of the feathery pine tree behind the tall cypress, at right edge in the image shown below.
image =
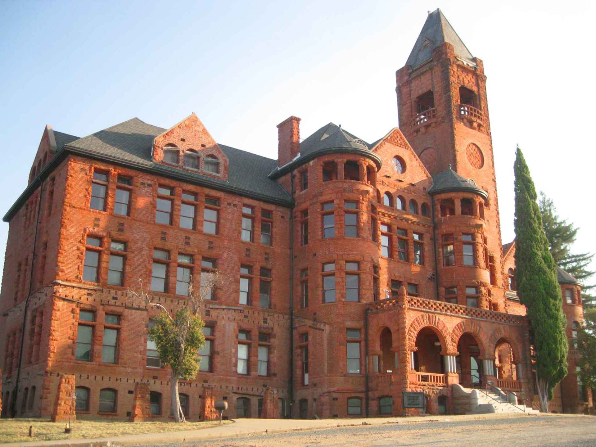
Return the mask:
[[[589,265],[594,258],[593,253],[572,254],[570,246],[575,243],[578,229],[573,222],[561,219],[551,198],[540,193],[539,201],[542,225],[547,235],[548,245],[555,263],[563,270],[572,274],[579,281],[585,281],[596,272],[589,270]],[[582,301],[585,308],[596,306],[596,297],[591,293],[596,284],[585,285],[582,289]]]

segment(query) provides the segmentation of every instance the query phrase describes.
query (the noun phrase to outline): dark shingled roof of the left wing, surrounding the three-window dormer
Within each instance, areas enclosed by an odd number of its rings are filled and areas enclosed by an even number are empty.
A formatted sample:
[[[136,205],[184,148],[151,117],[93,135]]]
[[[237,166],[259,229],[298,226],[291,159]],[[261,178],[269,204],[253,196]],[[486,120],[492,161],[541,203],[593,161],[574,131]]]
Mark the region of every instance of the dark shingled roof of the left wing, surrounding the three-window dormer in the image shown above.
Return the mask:
[[[151,159],[153,139],[166,130],[133,118],[95,134],[70,141],[67,146],[82,150],[97,159],[132,164],[133,167],[149,170],[157,175],[197,182],[215,189],[232,190],[238,194],[244,191],[245,194],[255,198],[260,197],[262,200],[270,199],[286,204],[291,202],[290,195],[281,185],[267,177],[269,172],[277,167],[277,160],[226,145],[220,144],[219,147],[229,161],[227,181],[162,163],[154,163]]]

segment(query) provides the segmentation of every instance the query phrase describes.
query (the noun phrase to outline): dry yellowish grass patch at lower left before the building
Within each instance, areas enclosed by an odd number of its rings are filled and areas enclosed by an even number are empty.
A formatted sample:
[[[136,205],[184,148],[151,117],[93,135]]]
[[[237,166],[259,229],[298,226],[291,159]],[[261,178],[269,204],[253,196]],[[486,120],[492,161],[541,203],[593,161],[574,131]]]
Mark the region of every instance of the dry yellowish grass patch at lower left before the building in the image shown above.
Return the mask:
[[[218,424],[218,421],[187,422],[122,422],[122,421],[86,421],[72,424],[72,433],[64,433],[66,424],[35,418],[15,418],[0,420],[0,443],[49,441],[55,439],[77,439],[123,434],[179,432],[181,430],[206,429]],[[229,424],[223,421],[222,424]],[[29,437],[29,426],[33,426],[33,437]]]

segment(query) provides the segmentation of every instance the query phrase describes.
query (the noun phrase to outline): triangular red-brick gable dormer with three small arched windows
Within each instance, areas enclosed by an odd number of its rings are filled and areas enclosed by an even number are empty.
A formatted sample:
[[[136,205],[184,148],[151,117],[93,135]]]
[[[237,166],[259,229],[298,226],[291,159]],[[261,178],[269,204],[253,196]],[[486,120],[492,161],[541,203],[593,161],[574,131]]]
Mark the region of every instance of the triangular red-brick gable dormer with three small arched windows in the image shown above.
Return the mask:
[[[194,112],[154,138],[153,161],[228,179],[228,157]]]

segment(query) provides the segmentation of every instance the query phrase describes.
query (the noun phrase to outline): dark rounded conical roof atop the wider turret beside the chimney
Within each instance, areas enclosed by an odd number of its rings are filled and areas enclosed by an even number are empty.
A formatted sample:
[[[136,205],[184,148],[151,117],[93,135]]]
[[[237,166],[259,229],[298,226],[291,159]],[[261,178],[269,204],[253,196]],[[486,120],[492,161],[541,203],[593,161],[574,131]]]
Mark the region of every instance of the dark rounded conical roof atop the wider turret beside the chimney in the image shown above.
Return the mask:
[[[309,162],[310,160],[324,154],[333,153],[356,153],[373,159],[377,167],[381,166],[381,159],[370,150],[367,144],[358,136],[350,134],[334,123],[328,123],[314,134],[305,138],[300,143],[300,153],[290,163],[276,167],[269,174],[269,178],[278,178],[284,173]]]

